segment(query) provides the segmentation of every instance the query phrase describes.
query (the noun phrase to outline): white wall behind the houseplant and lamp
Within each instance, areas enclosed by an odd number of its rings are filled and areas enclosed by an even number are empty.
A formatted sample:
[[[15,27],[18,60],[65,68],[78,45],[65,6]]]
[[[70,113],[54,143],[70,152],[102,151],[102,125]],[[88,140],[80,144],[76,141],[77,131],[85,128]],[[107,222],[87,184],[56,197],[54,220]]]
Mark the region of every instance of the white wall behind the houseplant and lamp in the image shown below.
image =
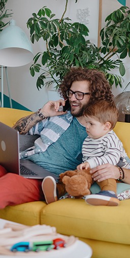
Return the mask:
[[[115,0],[115,2],[117,1]],[[27,21],[32,16],[33,12],[37,13],[40,8],[47,6],[53,13],[56,13],[56,18],[60,18],[64,11],[65,3],[66,0],[8,0],[6,9],[12,9],[12,18],[16,20],[16,25],[21,27],[21,29],[30,37],[30,32],[27,28]],[[119,7],[121,6],[119,3],[118,5]],[[89,16],[86,17],[84,22],[88,22],[86,25],[90,30],[89,39],[95,44],[97,44],[98,33],[98,6],[99,0],[78,0],[76,4],[75,0],[69,0],[68,10],[65,15],[66,17],[68,16],[71,18],[72,21],[80,21],[77,17],[77,13],[79,13],[79,17],[82,17],[81,11],[88,8]],[[109,6],[107,7],[107,10],[103,10],[103,12],[108,13]],[[39,51],[44,51],[44,44],[42,40],[35,42],[32,46],[34,55]],[[126,62],[128,63],[127,66],[129,68],[129,59],[126,60]],[[33,78],[30,75],[30,66],[31,63],[21,67],[8,67],[8,74],[12,99],[21,105],[35,111],[42,107],[43,104],[45,104],[48,100],[56,100],[59,98],[59,96],[55,91],[53,91],[52,87],[49,91],[45,87],[38,91],[36,87],[36,81],[39,73]],[[124,86],[128,81],[128,77],[129,69],[127,70],[127,74],[125,76]],[[8,95],[6,80],[4,80],[4,83],[4,93]],[[115,95],[121,91],[122,90],[119,87],[117,89],[113,88]]]

